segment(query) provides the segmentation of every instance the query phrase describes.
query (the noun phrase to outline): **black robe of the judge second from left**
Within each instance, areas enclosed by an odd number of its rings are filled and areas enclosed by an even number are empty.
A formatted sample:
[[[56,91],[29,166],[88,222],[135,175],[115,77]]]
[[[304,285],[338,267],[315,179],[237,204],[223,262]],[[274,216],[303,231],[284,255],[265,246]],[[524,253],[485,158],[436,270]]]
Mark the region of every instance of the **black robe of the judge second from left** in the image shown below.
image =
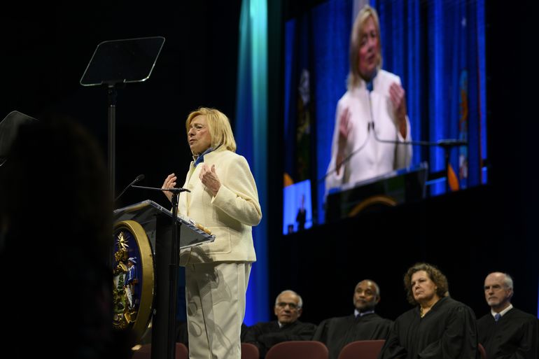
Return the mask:
[[[358,318],[353,314],[329,318],[318,325],[313,340],[323,342],[328,347],[329,359],[337,359],[346,344],[356,342],[356,340],[386,339],[392,323],[374,313],[358,316]]]

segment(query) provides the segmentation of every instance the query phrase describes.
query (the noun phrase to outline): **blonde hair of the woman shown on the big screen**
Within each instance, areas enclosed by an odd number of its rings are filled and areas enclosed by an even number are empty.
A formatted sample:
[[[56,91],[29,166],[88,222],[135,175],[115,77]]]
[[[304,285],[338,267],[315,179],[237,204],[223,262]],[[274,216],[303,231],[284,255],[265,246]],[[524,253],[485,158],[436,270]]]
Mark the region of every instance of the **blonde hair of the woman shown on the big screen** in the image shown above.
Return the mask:
[[[376,27],[376,36],[378,38],[378,59],[377,69],[381,69],[381,38],[380,38],[380,21],[378,13],[372,6],[365,5],[358,13],[356,20],[353,22],[352,33],[350,35],[350,72],[348,73],[348,90],[356,87],[363,79],[359,73],[359,48],[363,34],[363,27],[369,18],[372,17],[374,27]]]

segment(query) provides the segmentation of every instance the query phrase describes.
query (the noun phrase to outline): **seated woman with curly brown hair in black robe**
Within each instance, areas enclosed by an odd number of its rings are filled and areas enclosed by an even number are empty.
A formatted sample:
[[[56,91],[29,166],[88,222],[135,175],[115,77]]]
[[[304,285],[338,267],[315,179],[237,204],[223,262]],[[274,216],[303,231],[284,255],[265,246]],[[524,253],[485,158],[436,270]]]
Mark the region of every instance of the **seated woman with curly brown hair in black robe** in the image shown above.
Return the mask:
[[[444,274],[417,263],[404,281],[408,301],[419,305],[396,319],[379,359],[479,358],[475,314],[449,297]]]

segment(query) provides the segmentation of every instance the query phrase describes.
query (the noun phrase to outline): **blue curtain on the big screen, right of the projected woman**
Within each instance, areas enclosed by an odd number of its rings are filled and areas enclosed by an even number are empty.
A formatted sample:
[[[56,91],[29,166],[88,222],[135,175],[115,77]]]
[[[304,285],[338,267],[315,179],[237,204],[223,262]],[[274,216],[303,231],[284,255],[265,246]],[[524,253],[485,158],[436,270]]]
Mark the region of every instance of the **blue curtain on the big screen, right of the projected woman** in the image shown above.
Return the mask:
[[[486,70],[484,1],[371,1],[380,17],[384,68],[407,92],[413,139],[463,139],[451,150],[459,188],[485,183]],[[413,164],[444,171],[444,150],[414,147]],[[435,183],[431,195],[444,192]]]

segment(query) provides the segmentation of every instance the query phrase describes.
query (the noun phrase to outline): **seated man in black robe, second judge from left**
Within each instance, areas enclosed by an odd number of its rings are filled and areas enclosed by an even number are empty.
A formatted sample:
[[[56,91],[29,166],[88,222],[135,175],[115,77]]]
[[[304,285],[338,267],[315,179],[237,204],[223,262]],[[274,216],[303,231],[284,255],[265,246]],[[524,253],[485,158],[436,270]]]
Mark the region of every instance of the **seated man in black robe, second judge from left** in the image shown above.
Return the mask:
[[[353,292],[353,305],[356,307],[353,314],[325,319],[316,328],[313,340],[328,347],[329,359],[337,359],[346,344],[357,340],[386,339],[393,322],[374,314],[374,307],[379,301],[377,283],[369,279],[360,281]]]

